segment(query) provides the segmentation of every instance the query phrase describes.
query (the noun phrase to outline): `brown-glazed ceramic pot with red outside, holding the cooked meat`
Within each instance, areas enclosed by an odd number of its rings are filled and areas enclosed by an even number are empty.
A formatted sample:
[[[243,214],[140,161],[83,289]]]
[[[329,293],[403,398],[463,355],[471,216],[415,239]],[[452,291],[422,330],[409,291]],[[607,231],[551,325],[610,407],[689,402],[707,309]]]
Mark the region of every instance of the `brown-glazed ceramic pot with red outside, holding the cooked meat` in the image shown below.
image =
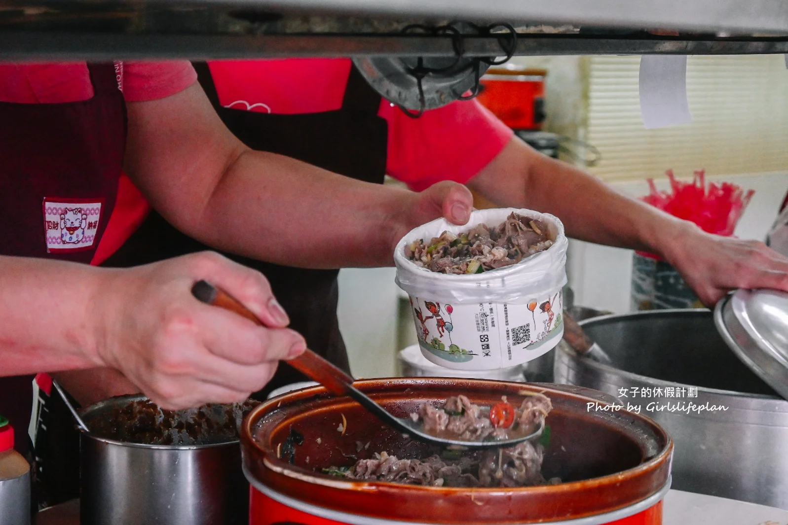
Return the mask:
[[[400,417],[424,402],[437,405],[459,393],[490,405],[501,395],[516,399],[522,390],[543,392],[554,408],[547,418],[551,439],[542,473],[563,482],[515,489],[451,488],[353,482],[319,474],[321,468],[351,465],[356,457],[383,450],[398,457],[429,451],[381,424],[355,401],[332,397],[315,386],[275,397],[243,422],[243,468],[252,485],[251,525],[662,523],[673,442],[645,416],[589,411],[589,406],[615,404],[606,394],[551,383],[482,379],[372,379],[355,385]],[[347,424],[340,427],[343,421]],[[303,435],[292,463],[282,452],[291,429]],[[367,442],[370,446],[364,448]]]

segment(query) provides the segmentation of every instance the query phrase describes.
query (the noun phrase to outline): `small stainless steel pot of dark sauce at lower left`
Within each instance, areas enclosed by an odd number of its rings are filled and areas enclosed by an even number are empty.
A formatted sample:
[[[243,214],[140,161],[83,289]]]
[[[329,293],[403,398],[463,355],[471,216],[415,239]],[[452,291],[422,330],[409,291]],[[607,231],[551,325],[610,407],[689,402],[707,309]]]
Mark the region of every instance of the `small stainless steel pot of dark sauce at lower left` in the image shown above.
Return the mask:
[[[82,412],[91,421],[143,396],[120,396]],[[249,484],[239,442],[141,445],[80,432],[82,525],[248,523]]]

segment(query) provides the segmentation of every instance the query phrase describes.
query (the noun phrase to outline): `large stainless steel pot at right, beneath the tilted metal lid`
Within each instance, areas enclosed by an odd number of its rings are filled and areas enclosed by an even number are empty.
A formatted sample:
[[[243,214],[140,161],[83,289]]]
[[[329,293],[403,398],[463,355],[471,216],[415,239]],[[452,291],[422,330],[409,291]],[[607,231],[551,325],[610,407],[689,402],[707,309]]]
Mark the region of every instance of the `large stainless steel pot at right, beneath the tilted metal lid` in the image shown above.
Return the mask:
[[[788,509],[788,401],[730,352],[712,312],[655,310],[580,324],[615,368],[562,342],[556,383],[615,395],[663,425],[675,441],[673,488]]]

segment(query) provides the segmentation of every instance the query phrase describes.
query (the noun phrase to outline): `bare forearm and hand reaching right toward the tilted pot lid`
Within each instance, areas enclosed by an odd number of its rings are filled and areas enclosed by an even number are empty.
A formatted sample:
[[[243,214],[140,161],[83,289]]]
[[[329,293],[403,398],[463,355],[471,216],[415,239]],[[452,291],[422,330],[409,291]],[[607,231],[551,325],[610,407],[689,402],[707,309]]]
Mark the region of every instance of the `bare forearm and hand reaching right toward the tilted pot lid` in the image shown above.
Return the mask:
[[[567,235],[659,253],[705,305],[734,288],[788,291],[788,259],[762,242],[710,235],[616,193],[599,179],[513,139],[469,186],[490,201],[549,212]]]

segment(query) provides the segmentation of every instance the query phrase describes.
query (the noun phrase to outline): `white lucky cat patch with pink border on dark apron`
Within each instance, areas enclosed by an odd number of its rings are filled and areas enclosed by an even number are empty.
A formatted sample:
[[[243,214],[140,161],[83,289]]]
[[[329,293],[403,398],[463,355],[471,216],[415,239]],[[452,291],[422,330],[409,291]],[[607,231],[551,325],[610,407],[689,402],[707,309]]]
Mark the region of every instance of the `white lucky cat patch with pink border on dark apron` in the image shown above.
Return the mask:
[[[46,251],[75,252],[94,247],[101,220],[102,201],[44,199]]]

